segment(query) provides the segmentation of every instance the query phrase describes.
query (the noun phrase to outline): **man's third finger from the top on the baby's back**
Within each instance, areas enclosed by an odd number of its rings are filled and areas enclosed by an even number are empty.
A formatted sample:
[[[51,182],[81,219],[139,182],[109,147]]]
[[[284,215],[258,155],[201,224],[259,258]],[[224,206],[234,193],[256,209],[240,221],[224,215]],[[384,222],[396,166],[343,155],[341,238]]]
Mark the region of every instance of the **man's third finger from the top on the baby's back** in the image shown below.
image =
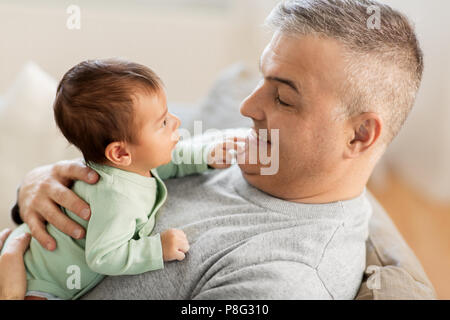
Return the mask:
[[[78,223],[65,215],[56,204],[47,202],[42,208],[42,216],[60,231],[75,239],[84,237],[85,230]]]

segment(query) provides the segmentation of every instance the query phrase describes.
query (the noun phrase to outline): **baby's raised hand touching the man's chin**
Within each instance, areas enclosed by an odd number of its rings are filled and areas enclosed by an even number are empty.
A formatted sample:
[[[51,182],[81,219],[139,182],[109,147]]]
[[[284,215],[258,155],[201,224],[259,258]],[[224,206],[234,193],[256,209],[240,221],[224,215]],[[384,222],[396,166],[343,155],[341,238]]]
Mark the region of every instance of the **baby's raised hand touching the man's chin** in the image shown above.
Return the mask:
[[[215,169],[226,169],[232,165],[235,154],[245,151],[245,137],[228,137],[216,143],[208,154],[208,165]]]

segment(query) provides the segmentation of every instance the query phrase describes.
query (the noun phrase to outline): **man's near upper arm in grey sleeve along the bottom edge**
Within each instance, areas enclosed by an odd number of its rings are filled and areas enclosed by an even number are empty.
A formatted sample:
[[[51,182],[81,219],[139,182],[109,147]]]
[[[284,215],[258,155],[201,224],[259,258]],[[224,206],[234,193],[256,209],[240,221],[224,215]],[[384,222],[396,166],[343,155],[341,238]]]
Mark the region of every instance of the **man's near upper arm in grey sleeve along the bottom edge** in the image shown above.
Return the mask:
[[[194,293],[197,300],[332,299],[316,270],[294,261],[272,261],[225,270]]]

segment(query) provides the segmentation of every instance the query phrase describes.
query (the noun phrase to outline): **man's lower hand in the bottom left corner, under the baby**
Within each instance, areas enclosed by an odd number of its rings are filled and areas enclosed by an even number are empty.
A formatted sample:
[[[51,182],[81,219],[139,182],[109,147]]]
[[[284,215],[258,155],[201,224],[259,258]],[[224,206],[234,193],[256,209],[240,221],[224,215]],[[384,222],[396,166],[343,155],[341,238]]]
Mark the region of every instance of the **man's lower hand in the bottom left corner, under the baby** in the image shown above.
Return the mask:
[[[0,232],[0,250],[11,230]],[[23,300],[27,290],[27,276],[23,254],[30,244],[31,236],[25,233],[8,242],[0,256],[0,300]]]

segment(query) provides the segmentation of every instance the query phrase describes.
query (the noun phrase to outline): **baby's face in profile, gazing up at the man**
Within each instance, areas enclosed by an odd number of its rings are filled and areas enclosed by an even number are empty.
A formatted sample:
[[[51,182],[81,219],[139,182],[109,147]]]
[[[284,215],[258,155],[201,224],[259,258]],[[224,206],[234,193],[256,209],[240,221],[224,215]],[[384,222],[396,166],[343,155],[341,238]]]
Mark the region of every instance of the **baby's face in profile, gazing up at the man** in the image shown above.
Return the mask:
[[[138,123],[137,143],[131,146],[132,162],[144,170],[169,163],[180,136],[180,119],[168,112],[164,90],[137,93],[134,111]]]

